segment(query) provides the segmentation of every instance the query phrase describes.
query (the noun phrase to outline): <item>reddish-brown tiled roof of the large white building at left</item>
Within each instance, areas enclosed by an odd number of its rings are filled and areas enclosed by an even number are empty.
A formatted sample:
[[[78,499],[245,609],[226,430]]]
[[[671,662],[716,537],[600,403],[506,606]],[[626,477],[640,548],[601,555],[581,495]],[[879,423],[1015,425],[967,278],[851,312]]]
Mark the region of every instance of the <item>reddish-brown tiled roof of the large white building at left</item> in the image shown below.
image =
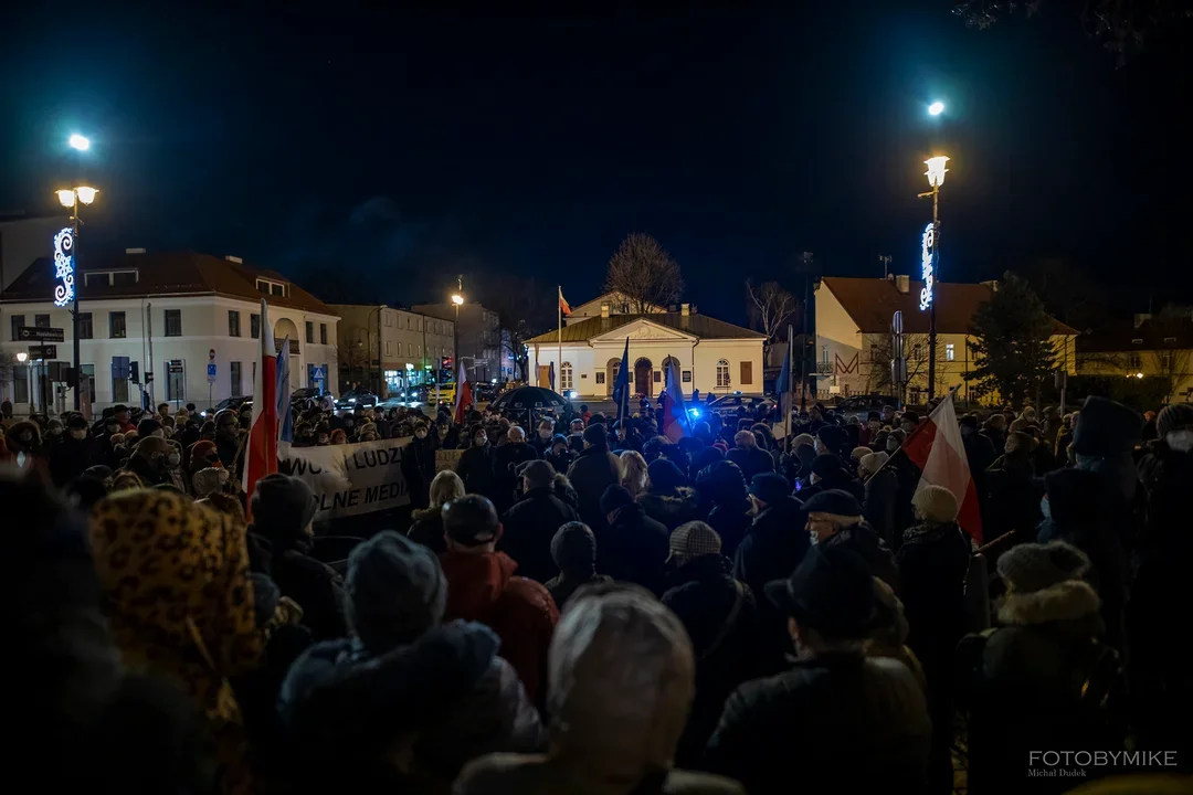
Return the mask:
[[[137,281],[134,284],[106,285],[95,280],[87,284],[84,278],[86,273],[134,269],[137,272]],[[258,278],[286,284],[289,286],[288,294],[285,297],[264,296],[256,290]],[[335,317],[330,306],[279,273],[193,251],[120,254],[105,257],[101,262],[88,260],[85,255],[82,271],[75,285],[79,291],[79,300],[217,294],[247,300],[267,298],[271,305],[276,304]],[[37,260],[25,268],[25,272],[5,290],[4,300],[6,303],[43,302],[49,300],[52,294],[54,266],[47,257]]]

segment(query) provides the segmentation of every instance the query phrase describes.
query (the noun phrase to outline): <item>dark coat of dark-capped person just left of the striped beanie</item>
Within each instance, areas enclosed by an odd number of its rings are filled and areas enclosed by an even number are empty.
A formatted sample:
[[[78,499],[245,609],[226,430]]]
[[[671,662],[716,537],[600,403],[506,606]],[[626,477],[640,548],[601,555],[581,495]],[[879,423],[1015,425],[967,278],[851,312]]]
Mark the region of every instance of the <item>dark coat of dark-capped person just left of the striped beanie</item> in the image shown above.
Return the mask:
[[[593,529],[593,533],[596,535],[596,571],[662,594],[667,555],[670,554],[670,534],[666,526],[633,503],[619,508],[608,526]]]

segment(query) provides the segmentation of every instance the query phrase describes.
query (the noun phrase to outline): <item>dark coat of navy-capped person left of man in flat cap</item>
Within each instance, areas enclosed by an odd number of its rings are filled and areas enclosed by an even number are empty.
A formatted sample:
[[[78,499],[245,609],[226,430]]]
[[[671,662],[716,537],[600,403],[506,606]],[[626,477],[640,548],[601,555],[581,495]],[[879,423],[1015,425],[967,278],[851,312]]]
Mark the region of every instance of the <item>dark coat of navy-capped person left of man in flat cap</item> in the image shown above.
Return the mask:
[[[773,579],[784,579],[799,566],[811,546],[808,515],[795,497],[784,497],[754,517],[737,547],[734,577],[762,594]]]

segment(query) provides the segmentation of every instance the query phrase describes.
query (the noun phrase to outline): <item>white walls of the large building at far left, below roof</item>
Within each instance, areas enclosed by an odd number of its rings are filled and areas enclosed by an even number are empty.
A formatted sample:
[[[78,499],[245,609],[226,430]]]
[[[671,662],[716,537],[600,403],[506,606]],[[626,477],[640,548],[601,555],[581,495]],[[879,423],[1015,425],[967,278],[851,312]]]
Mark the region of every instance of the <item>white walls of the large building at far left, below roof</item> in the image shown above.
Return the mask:
[[[153,358],[148,352],[148,339],[146,328],[146,306],[152,306],[152,337]],[[183,336],[167,337],[165,325],[165,311],[181,311]],[[240,311],[239,337],[229,336],[228,311]],[[111,339],[109,334],[109,319],[111,312],[124,312],[126,336],[124,339]],[[194,403],[198,406],[206,406],[210,403],[231,396],[230,364],[241,364],[241,392],[251,395],[253,392],[253,362],[260,358],[260,340],[251,336],[251,315],[260,312],[260,305],[255,302],[237,300],[216,296],[197,297],[173,297],[162,296],[149,299],[111,299],[88,300],[80,304],[80,312],[89,312],[92,316],[91,340],[80,340],[80,358],[84,365],[94,366],[95,375],[95,403],[94,409],[100,410],[116,403],[112,386],[112,358],[128,356],[131,361],[140,364],[142,381],[146,371],[154,373],[153,399],[161,403],[167,395],[167,366],[169,360],[181,360],[185,384],[180,403]],[[58,309],[52,303],[42,304],[8,304],[4,308],[2,323],[0,328],[0,353],[5,361],[13,361],[18,350],[26,350],[25,342],[12,340],[12,316],[24,315],[25,325],[35,324],[35,315],[49,313],[50,327],[63,329],[66,341],[57,344],[57,361],[69,362],[73,359],[72,350],[72,322],[67,309]],[[327,365],[327,385],[332,392],[338,393],[338,367],[335,359],[335,334],[338,318],[329,315],[308,313],[297,309],[284,306],[270,308],[270,322],[277,327],[280,319],[289,319],[297,329],[298,355],[290,358],[291,385],[292,389],[308,386],[307,365]],[[314,343],[307,343],[305,323],[314,323]],[[320,324],[327,324],[327,344],[320,343]],[[215,350],[216,380],[208,383],[209,352]],[[33,379],[35,402],[39,404],[41,393],[36,389],[38,379]],[[16,387],[13,383],[7,383],[2,387],[4,398],[13,400]],[[209,397],[210,396],[210,397]],[[137,404],[141,400],[138,387],[129,385],[129,402]],[[74,399],[68,395],[68,408],[73,406]],[[27,403],[14,405],[16,411],[27,410]]]

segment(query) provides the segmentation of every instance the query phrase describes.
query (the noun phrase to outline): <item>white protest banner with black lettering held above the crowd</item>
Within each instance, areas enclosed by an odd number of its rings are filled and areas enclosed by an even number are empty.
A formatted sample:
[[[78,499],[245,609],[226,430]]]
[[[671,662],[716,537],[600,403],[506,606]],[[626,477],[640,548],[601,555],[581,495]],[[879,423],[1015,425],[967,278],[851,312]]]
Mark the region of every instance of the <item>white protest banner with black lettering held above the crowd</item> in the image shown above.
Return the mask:
[[[282,471],[302,478],[315,492],[315,521],[358,516],[410,502],[402,477],[402,448],[410,437],[356,445],[292,447]]]

